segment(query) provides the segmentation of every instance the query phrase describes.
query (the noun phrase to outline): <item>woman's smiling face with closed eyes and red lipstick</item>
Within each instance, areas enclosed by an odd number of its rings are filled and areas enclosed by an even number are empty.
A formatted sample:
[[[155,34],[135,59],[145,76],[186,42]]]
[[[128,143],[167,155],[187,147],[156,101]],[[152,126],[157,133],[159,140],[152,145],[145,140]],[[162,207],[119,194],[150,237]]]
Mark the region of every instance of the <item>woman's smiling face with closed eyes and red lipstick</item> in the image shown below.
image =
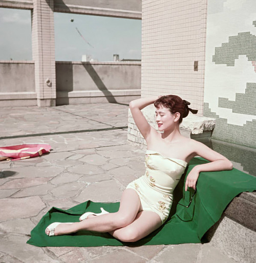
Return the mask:
[[[160,106],[156,109],[156,123],[158,125],[158,130],[163,132],[164,130],[168,130],[175,125],[177,122],[176,114],[172,114],[169,109]]]

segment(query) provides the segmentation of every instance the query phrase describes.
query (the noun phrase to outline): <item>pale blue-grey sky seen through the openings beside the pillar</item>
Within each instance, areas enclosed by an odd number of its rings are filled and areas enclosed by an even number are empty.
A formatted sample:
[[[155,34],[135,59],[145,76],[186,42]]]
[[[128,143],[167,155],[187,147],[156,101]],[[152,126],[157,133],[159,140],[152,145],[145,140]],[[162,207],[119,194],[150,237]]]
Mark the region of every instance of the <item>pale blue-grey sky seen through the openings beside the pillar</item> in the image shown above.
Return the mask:
[[[54,24],[56,61],[141,59],[141,20],[54,13]],[[0,8],[0,35],[0,60],[32,60],[30,10]]]

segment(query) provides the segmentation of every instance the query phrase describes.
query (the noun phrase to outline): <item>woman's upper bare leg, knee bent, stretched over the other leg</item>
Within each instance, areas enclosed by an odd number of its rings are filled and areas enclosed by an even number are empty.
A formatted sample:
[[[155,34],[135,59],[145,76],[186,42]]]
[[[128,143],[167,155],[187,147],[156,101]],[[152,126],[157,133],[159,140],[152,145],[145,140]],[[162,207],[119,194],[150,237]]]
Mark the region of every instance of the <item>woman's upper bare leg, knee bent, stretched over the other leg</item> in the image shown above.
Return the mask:
[[[126,189],[122,194],[118,212],[94,216],[73,224],[59,224],[55,229],[54,235],[70,234],[79,230],[110,232],[132,223],[139,209],[140,199],[138,194],[133,189]],[[47,229],[46,234],[48,235],[49,233],[50,231]]]

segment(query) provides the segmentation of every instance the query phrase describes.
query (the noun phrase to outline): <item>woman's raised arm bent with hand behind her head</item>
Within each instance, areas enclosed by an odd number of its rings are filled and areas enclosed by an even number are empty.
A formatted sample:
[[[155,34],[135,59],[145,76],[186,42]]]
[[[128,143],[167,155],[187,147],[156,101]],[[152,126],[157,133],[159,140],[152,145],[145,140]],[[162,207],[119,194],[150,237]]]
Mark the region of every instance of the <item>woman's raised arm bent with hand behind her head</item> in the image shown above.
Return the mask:
[[[150,124],[148,124],[147,120],[141,112],[141,109],[154,103],[157,99],[158,97],[140,98],[131,101],[129,105],[133,115],[133,119],[145,140],[147,139],[148,135],[150,135],[153,127]]]

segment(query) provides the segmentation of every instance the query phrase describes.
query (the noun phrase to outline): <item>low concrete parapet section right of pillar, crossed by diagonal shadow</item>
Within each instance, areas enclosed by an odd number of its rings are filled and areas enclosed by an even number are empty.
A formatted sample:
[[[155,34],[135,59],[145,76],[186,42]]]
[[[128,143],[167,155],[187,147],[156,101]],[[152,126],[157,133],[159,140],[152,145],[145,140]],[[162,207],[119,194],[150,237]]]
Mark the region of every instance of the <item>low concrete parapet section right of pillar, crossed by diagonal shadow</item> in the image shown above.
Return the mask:
[[[140,87],[141,63],[56,62],[56,105],[129,102]]]

